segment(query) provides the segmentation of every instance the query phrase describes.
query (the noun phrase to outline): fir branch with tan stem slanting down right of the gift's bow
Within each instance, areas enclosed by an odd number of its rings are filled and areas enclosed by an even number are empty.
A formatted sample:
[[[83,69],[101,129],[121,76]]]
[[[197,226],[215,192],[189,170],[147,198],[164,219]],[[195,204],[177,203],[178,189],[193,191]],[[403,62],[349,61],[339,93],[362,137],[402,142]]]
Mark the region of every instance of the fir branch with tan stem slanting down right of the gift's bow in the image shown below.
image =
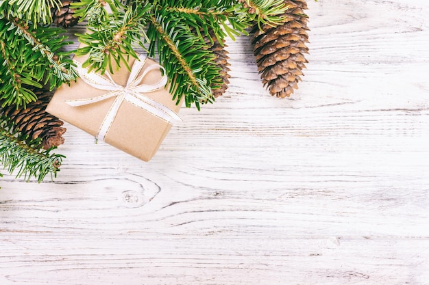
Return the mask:
[[[208,46],[173,13],[159,10],[149,19],[149,56],[154,56],[155,48],[158,50],[160,63],[166,68],[171,83],[173,100],[178,104],[184,96],[186,107],[195,103],[197,109],[200,103],[212,103],[210,85],[220,82],[220,68],[213,64],[214,55]]]

